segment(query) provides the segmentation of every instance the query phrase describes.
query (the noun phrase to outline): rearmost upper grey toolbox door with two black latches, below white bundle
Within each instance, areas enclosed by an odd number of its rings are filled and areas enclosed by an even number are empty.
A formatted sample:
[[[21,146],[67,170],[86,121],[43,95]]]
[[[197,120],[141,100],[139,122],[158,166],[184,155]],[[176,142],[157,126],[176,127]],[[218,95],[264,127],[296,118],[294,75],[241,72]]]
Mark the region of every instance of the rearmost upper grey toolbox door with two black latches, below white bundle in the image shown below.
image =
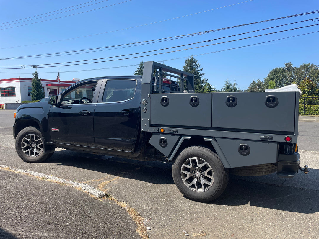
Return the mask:
[[[227,99],[234,103],[227,105]],[[267,106],[267,100],[277,101],[277,105]],[[212,127],[291,133],[297,106],[296,92],[212,93]]]

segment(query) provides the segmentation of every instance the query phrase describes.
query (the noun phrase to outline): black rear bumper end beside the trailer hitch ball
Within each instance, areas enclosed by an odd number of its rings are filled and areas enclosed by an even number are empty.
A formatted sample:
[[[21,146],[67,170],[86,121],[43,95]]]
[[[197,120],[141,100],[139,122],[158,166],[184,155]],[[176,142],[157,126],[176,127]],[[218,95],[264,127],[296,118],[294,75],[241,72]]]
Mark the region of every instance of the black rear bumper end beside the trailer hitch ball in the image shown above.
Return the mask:
[[[300,155],[298,152],[278,155],[278,177],[290,178],[296,176],[299,169]]]

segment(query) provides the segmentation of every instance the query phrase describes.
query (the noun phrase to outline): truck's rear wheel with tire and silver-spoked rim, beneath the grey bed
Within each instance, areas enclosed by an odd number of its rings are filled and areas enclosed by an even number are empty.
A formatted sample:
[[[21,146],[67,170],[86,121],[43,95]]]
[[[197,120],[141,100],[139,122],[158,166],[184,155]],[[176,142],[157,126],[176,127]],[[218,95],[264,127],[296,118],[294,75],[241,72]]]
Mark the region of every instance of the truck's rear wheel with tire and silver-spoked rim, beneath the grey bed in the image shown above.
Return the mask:
[[[200,202],[218,198],[229,178],[228,169],[217,154],[202,146],[185,148],[176,158],[172,174],[175,185],[185,197]]]

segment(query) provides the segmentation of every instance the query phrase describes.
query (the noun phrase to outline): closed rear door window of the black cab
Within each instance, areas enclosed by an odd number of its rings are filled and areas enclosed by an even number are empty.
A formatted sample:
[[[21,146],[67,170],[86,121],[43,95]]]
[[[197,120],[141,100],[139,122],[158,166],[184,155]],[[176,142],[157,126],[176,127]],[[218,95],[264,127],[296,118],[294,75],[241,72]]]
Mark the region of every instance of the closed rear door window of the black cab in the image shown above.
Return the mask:
[[[102,102],[118,102],[134,98],[136,80],[108,80]]]

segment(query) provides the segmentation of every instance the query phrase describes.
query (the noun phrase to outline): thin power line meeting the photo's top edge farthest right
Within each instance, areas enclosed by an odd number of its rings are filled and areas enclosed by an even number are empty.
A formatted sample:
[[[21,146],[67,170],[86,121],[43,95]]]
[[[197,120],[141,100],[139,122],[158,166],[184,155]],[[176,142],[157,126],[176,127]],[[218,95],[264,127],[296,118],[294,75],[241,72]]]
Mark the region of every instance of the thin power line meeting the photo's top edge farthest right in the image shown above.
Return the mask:
[[[213,11],[213,10],[217,10],[217,9],[221,9],[221,8],[225,8],[225,7],[230,7],[230,6],[237,5],[237,4],[247,3],[247,2],[250,2],[250,1],[253,1],[253,0],[249,0],[249,1],[241,2],[241,3],[236,3],[236,4],[231,4],[231,5],[227,5],[227,6],[224,6],[224,7],[214,8],[214,9],[207,10],[207,11]],[[195,14],[199,14],[199,13],[203,13],[203,12],[207,12],[207,11],[201,11],[201,12],[192,13],[192,14],[185,15],[185,16],[180,16],[180,17],[176,17],[176,18],[170,18],[170,19],[166,19],[166,20],[162,20],[162,21],[147,23],[147,24],[144,24],[144,25],[132,26],[132,27],[123,28],[123,29],[118,29],[118,30],[114,30],[114,31],[104,32],[104,33],[96,33],[96,34],[87,35],[87,36],[80,36],[80,37],[68,38],[68,39],[63,39],[63,40],[48,41],[48,42],[35,43],[35,44],[29,44],[29,45],[23,45],[23,46],[16,46],[16,47],[27,47],[27,46],[40,45],[40,44],[46,44],[46,43],[52,43],[52,42],[58,42],[58,41],[73,40],[73,39],[78,39],[78,38],[96,36],[96,35],[101,35],[101,34],[105,34],[105,33],[118,32],[118,31],[127,30],[127,29],[132,29],[132,28],[136,28],[136,27],[140,27],[140,26],[146,26],[146,25],[151,25],[151,24],[154,24],[154,23],[160,23],[160,22],[165,22],[165,21],[169,21],[169,20],[174,20],[174,19],[177,19],[177,18],[188,17],[188,16],[191,16],[191,15],[195,15]],[[1,29],[0,29],[0,30],[1,30]],[[9,48],[15,48],[15,47],[4,47],[4,48],[0,48],[0,49],[9,49]]]

